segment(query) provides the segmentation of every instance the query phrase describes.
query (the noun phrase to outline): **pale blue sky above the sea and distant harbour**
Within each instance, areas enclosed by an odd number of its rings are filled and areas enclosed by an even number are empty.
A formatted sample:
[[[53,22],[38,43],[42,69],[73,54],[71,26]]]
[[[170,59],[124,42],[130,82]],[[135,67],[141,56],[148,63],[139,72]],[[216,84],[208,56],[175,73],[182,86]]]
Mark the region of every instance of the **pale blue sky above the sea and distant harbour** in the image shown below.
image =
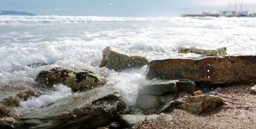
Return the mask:
[[[247,10],[256,13],[256,0],[0,0],[0,10],[27,11],[37,15],[157,17],[212,14]],[[243,3],[243,4],[241,4]],[[241,6],[243,5],[243,6]]]

